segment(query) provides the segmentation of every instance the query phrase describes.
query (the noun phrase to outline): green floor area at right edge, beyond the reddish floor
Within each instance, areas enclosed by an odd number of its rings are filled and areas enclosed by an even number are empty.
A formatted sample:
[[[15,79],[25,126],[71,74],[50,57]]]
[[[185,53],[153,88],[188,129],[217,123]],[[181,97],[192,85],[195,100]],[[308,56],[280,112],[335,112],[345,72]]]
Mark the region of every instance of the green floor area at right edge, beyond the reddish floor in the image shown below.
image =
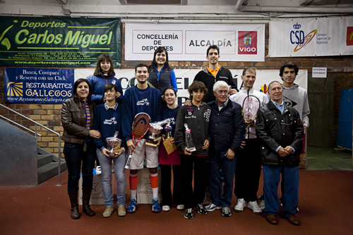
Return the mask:
[[[352,151],[333,152],[333,147],[308,147],[306,169],[353,171]]]

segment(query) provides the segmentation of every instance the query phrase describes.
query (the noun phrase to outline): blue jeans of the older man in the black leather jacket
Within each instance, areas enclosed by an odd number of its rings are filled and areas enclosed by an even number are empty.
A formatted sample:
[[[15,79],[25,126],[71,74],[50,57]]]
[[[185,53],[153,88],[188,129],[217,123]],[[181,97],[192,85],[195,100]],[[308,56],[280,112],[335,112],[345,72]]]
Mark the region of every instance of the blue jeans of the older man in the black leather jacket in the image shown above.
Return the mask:
[[[285,181],[282,191],[283,214],[294,215],[298,207],[299,167],[265,166],[263,165],[263,193],[265,195],[265,213],[276,214],[280,207],[278,200],[278,184],[280,174]]]

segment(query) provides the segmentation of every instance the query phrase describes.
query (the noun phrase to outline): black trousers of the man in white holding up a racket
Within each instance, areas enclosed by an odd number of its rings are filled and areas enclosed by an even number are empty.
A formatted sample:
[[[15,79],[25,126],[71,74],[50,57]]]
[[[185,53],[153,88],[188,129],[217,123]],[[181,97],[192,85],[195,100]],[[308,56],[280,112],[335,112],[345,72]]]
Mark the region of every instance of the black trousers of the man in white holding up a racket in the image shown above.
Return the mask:
[[[234,194],[246,202],[258,200],[258,183],[261,176],[261,156],[256,138],[246,139],[243,150],[237,151]]]

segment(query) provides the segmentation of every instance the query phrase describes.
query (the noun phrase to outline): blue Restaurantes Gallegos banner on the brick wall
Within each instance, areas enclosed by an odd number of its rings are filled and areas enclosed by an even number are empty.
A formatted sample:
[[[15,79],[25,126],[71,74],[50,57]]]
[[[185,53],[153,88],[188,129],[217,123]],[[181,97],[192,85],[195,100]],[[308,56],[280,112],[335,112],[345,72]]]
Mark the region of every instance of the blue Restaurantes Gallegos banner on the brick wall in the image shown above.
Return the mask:
[[[7,102],[61,104],[72,97],[73,69],[5,68]]]

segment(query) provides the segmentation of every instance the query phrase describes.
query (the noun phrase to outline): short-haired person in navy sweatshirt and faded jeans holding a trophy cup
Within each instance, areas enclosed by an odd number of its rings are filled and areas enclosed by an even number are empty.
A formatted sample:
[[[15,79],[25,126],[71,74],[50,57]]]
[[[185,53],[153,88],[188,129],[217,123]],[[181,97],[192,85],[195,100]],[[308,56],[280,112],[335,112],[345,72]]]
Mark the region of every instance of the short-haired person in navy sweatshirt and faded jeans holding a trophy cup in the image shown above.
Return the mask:
[[[102,167],[102,189],[104,194],[105,210],[103,217],[112,215],[112,162],[115,169],[116,191],[118,200],[118,215],[125,216],[125,141],[121,141],[121,104],[116,102],[118,89],[116,85],[108,83],[104,86],[106,102],[95,107],[95,121],[93,130],[100,131],[102,137],[94,140],[97,146],[97,157]]]

